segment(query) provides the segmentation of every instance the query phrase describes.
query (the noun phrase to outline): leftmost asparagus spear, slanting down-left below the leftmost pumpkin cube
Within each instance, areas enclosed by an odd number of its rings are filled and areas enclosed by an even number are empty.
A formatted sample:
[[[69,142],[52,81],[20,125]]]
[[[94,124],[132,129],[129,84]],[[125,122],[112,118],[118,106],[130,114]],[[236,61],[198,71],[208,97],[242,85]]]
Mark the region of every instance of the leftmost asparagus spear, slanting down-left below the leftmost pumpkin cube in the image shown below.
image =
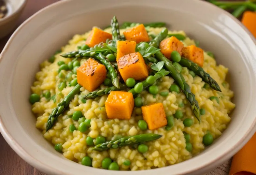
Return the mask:
[[[58,117],[65,111],[65,109],[69,106],[69,102],[74,98],[74,96],[80,93],[80,88],[82,86],[77,84],[69,94],[58,104],[58,107],[54,108],[52,114],[48,117],[48,121],[46,124],[46,131],[51,129],[56,123]]]

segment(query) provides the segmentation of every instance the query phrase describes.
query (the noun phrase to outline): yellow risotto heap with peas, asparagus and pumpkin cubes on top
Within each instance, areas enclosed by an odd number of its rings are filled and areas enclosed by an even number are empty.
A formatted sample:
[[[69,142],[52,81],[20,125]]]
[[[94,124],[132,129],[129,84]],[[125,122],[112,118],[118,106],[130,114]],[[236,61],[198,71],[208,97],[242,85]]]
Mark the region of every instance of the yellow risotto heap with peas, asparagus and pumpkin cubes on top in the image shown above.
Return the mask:
[[[165,23],[119,29],[114,17],[111,27],[76,34],[40,68],[30,96],[36,127],[65,158],[95,168],[190,159],[222,134],[235,107],[228,69]]]

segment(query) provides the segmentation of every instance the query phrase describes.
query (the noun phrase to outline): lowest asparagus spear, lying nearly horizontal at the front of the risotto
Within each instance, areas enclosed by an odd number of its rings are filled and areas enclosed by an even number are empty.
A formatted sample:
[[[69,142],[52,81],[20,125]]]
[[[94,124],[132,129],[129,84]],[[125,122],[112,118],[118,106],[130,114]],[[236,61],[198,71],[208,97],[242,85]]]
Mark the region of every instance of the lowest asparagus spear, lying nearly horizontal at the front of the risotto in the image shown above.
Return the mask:
[[[111,148],[118,148],[122,146],[127,146],[127,145],[133,145],[133,144],[139,144],[143,142],[150,142],[153,140],[157,140],[158,138],[162,137],[162,135],[159,134],[140,134],[140,135],[134,135],[134,136],[126,136],[122,137],[118,140],[113,140],[113,141],[107,141],[105,143],[101,143],[93,147],[92,150],[95,151],[104,151],[107,149]]]

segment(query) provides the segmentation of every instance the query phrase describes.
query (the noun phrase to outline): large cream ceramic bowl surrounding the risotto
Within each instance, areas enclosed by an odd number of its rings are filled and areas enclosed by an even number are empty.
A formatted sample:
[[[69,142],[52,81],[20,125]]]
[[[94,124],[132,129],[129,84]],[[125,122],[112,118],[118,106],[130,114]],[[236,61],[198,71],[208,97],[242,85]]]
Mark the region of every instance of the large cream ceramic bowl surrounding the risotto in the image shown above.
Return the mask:
[[[184,30],[229,68],[236,108],[229,127],[200,155],[154,170],[124,171],[122,175],[201,174],[234,155],[256,127],[256,45],[252,35],[227,12],[198,0],[65,0],[50,5],[21,25],[0,55],[0,130],[10,146],[37,169],[55,175],[119,175],[65,159],[35,128],[28,102],[39,63],[76,33],[104,27],[113,15],[120,22],[166,21]]]

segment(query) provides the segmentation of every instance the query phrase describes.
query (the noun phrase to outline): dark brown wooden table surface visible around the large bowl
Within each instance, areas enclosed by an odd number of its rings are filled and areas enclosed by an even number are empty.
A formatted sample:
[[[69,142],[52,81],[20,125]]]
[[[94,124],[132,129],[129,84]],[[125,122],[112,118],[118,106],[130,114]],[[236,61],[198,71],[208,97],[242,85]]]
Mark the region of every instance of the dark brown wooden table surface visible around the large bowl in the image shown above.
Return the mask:
[[[17,26],[23,23],[29,16],[44,8],[45,6],[59,0],[28,0],[25,10],[20,16]],[[0,40],[0,52],[11,34]],[[207,175],[227,175],[230,167],[228,161]],[[45,175],[21,159],[5,142],[0,134],[0,175]]]

